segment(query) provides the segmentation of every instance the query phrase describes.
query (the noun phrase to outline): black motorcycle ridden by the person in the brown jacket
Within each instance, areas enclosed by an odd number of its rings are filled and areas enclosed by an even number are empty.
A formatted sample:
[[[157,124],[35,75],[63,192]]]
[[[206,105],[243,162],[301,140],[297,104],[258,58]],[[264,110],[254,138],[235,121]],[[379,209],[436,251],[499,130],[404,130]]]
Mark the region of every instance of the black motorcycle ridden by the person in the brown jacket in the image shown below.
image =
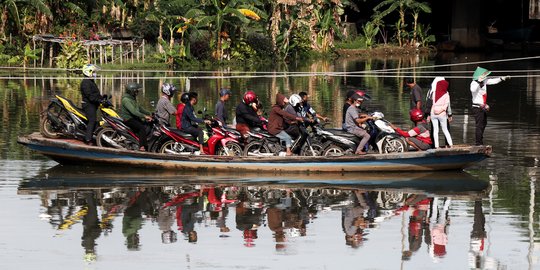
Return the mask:
[[[303,124],[299,125],[299,128],[300,136],[293,140],[291,152],[301,156],[320,156],[323,146],[312,141]],[[249,131],[248,135],[249,143],[244,147],[244,156],[275,156],[285,153],[285,142],[265,130],[255,128]]]

